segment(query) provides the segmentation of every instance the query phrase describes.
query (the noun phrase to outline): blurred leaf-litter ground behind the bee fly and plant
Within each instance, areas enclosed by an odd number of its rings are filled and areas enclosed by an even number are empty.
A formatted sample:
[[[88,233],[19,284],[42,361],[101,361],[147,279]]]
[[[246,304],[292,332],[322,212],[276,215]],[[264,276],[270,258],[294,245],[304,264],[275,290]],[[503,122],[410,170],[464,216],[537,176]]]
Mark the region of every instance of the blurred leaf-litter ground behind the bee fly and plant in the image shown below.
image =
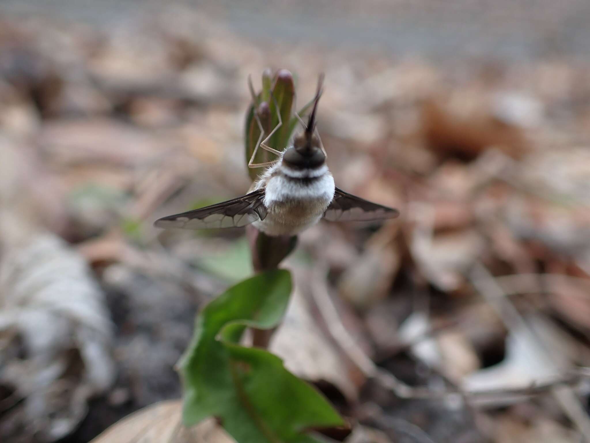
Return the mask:
[[[402,213],[320,223],[285,263],[271,350],[348,441],[590,441],[589,21],[584,0],[2,1],[0,441],[87,442],[181,396],[196,312],[253,271],[243,230],[152,223],[247,191],[268,67],[300,105],[326,74],[336,184]]]

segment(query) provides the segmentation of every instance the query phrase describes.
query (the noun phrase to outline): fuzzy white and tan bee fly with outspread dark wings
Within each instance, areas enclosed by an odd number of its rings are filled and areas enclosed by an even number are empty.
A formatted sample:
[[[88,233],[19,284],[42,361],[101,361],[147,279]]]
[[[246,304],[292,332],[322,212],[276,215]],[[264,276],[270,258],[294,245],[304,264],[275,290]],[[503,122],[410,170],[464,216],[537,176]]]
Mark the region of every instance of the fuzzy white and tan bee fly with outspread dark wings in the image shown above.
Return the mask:
[[[248,162],[250,168],[266,166],[267,169],[253,183],[248,194],[163,217],[156,220],[155,226],[202,229],[240,227],[252,223],[269,236],[293,236],[322,218],[344,222],[397,217],[399,212],[395,209],[371,203],[335,187],[334,178],[326,165],[326,151],[316,129],[316,110],[322,95],[322,80],[320,76],[307,125],[296,113],[304,131],[296,135],[292,144],[282,152],[266,145],[282,124],[276,106],[278,125],[266,139],[258,143]],[[255,117],[262,133],[260,119]],[[258,147],[276,154],[277,160],[253,164]]]

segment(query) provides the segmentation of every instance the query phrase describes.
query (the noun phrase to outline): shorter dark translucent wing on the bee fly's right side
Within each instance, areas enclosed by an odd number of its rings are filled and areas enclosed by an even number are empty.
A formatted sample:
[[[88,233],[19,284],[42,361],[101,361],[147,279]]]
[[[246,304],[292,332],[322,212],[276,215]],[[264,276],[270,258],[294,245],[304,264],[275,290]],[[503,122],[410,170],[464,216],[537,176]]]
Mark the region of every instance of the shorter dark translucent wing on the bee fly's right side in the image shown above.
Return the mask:
[[[330,222],[370,222],[395,219],[397,216],[399,211],[396,209],[371,203],[339,188],[336,188],[332,203],[324,213],[324,219]]]

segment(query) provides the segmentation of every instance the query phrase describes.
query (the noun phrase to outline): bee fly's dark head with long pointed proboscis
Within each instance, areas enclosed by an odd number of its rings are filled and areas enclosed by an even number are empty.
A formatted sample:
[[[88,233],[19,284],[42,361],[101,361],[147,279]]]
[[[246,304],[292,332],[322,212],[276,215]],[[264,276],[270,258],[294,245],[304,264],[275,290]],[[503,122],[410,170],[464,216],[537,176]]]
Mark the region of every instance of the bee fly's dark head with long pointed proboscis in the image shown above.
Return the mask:
[[[318,136],[315,135],[317,103],[322,96],[323,76],[317,84],[316,96],[313,99],[312,113],[309,115],[307,127],[293,139],[293,146],[283,154],[283,162],[294,169],[314,169],[326,162],[326,154]]]

